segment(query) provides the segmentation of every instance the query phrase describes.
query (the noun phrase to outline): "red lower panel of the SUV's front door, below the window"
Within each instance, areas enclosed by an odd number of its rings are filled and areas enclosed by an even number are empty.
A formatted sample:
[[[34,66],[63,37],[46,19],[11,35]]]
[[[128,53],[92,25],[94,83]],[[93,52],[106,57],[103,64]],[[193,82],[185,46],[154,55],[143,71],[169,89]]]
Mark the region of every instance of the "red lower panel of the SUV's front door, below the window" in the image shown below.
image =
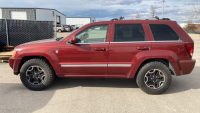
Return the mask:
[[[64,44],[60,48],[61,64],[105,64],[108,59],[108,45],[104,44]],[[94,48],[105,48],[105,51],[95,51]],[[64,74],[107,74],[107,67],[61,67]]]

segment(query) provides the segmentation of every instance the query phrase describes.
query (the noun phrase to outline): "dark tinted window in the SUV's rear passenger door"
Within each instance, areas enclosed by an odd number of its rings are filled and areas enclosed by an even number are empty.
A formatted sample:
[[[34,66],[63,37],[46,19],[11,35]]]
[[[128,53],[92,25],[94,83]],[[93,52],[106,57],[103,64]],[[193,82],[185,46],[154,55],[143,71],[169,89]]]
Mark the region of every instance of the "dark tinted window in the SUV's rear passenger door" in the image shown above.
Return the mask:
[[[116,24],[114,42],[145,41],[142,24]]]

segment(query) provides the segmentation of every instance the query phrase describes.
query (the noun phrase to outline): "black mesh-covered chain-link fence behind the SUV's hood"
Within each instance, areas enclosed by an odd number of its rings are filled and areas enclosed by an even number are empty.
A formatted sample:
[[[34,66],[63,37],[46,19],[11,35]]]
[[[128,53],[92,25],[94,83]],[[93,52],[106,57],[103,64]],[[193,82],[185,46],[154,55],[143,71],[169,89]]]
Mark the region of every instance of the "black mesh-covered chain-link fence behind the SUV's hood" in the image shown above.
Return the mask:
[[[53,27],[53,21],[0,19],[0,51],[5,45],[17,46],[30,41],[53,38]]]

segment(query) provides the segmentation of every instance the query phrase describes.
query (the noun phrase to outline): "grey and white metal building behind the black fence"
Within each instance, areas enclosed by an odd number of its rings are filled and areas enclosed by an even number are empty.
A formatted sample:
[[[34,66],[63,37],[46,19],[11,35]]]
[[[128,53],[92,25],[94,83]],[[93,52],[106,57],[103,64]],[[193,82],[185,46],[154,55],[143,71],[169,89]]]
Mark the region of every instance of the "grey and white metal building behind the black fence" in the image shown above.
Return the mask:
[[[66,16],[56,9],[0,7],[0,19],[55,21],[66,24]]]

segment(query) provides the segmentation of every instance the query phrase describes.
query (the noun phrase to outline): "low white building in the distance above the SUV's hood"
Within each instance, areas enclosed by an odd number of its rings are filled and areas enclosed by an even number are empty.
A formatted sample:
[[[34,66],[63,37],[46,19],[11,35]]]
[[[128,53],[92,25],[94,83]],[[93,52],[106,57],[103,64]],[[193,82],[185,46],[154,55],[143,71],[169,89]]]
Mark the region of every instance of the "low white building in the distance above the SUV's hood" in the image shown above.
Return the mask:
[[[82,27],[92,22],[96,22],[94,17],[66,17],[67,25],[76,25],[77,27]]]

